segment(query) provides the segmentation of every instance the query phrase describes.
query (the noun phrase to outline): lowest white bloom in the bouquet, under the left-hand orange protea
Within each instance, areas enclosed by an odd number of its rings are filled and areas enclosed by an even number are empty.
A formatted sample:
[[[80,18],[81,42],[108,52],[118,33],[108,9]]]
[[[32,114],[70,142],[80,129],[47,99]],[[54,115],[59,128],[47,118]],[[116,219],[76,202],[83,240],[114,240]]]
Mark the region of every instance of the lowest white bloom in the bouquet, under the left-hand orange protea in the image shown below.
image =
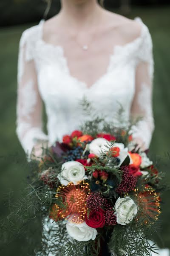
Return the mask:
[[[69,236],[80,242],[89,241],[91,239],[94,240],[97,236],[97,230],[93,227],[89,227],[85,221],[80,224],[68,221],[66,229]]]

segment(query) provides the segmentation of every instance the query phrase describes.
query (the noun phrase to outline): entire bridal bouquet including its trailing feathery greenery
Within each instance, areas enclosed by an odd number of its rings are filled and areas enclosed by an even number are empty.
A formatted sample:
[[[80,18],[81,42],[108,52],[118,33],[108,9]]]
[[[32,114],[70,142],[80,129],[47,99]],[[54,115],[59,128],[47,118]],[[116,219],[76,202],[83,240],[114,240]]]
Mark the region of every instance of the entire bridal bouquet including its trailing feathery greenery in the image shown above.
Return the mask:
[[[43,148],[43,157],[28,163],[23,197],[0,221],[1,236],[20,234],[39,216],[46,221],[36,256],[105,255],[105,245],[116,256],[151,256],[156,247],[147,238],[157,231],[164,173],[147,151],[136,150],[133,123],[123,122],[95,114]]]

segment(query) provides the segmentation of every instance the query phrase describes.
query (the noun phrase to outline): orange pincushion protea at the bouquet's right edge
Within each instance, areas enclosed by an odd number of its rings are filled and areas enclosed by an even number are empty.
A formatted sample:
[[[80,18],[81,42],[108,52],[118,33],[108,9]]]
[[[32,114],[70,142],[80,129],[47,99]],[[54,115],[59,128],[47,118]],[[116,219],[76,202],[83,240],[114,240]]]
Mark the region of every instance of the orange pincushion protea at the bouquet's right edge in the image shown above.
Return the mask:
[[[153,188],[147,186],[145,186],[143,192],[138,192],[138,189],[134,191],[138,205],[142,209],[141,214],[145,219],[143,224],[153,224],[158,220],[161,213],[159,195],[156,194]]]

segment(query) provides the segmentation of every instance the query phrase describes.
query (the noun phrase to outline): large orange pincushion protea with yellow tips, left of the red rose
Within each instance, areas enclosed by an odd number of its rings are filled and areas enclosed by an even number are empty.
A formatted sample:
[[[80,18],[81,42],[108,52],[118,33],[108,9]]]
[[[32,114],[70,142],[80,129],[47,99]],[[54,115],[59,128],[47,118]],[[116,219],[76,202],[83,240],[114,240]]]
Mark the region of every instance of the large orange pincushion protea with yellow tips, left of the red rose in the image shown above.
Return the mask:
[[[86,199],[90,192],[89,184],[84,180],[78,182],[77,185],[70,182],[67,186],[59,186],[55,197],[61,200],[61,204],[55,204],[54,218],[56,220],[70,218],[70,221],[74,223],[83,222],[87,212]]]

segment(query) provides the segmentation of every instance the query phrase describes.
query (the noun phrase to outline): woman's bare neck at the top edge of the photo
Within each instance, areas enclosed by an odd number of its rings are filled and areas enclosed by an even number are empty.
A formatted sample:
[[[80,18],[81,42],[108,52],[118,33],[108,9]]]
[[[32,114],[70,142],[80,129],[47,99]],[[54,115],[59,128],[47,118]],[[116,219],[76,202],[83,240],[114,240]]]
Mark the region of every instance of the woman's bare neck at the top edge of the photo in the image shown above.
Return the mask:
[[[96,25],[102,12],[103,9],[96,0],[61,0],[58,16],[62,24],[79,29]]]

